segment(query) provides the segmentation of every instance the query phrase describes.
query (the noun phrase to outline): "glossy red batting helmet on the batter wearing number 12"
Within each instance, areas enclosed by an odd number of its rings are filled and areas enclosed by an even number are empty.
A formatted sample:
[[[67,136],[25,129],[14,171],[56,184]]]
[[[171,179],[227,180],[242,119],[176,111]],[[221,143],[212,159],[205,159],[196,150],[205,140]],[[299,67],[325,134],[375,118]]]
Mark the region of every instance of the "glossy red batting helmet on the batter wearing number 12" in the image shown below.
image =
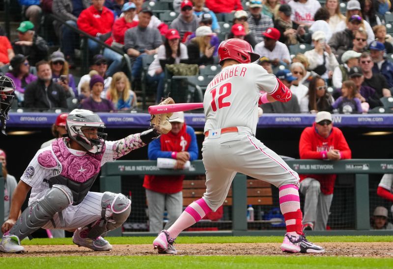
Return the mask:
[[[218,57],[220,64],[226,59],[232,59],[241,64],[252,63],[259,59],[259,55],[254,53],[250,43],[238,38],[231,38],[221,42],[218,47]]]

